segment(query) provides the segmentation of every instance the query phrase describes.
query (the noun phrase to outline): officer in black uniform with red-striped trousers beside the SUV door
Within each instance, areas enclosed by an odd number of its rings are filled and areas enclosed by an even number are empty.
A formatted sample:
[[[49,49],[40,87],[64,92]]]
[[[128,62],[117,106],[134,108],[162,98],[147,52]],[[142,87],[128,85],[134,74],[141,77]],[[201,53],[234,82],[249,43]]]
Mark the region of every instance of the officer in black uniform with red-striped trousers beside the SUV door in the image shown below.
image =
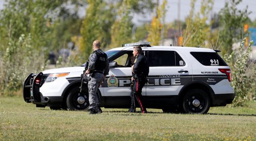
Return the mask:
[[[134,61],[134,65],[132,66],[133,96],[131,96],[131,108],[129,109],[129,112],[135,111],[135,97],[137,103],[140,105],[141,112],[146,113],[147,111],[145,105],[143,105],[144,102],[141,92],[147,81],[146,76],[149,72],[149,66],[140,46],[135,46],[133,48],[133,55],[136,57],[136,59]]]

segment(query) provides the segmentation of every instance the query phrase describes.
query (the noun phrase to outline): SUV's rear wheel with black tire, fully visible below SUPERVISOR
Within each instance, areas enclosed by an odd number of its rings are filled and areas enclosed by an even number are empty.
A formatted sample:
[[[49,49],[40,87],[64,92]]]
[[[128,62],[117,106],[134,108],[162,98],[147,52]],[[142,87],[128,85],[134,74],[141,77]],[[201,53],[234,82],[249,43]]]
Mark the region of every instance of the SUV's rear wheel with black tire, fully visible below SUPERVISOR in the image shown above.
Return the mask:
[[[206,114],[210,108],[210,99],[205,91],[193,89],[186,92],[182,105],[186,114]]]

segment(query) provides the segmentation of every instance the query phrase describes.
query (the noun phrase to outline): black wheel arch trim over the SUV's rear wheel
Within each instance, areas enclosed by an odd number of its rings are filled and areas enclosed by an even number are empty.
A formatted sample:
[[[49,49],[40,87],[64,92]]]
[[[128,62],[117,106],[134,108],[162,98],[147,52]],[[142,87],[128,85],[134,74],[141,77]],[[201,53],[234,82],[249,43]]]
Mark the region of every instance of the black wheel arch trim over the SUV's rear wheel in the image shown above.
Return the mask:
[[[210,99],[210,106],[212,105],[213,101],[214,101],[214,90],[211,89],[211,87],[202,81],[193,81],[189,84],[186,84],[186,86],[184,86],[180,92],[179,92],[179,103],[182,102],[182,98],[184,97],[184,95],[186,94],[186,92],[188,92],[189,90],[192,89],[200,89],[206,92],[206,94],[209,96]]]

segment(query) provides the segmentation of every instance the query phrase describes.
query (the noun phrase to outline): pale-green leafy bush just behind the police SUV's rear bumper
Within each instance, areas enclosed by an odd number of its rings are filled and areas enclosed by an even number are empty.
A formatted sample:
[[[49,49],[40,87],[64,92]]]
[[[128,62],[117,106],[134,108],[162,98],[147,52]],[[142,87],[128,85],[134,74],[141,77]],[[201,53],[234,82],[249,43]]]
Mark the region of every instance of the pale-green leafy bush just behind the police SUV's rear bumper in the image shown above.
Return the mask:
[[[251,98],[250,91],[253,89],[255,78],[251,68],[249,55],[251,52],[251,44],[245,47],[245,39],[241,42],[238,49],[232,51],[228,56],[225,54],[224,59],[229,64],[232,71],[231,86],[234,89],[235,97],[232,106],[245,106],[246,102]],[[250,73],[251,72],[251,73]]]

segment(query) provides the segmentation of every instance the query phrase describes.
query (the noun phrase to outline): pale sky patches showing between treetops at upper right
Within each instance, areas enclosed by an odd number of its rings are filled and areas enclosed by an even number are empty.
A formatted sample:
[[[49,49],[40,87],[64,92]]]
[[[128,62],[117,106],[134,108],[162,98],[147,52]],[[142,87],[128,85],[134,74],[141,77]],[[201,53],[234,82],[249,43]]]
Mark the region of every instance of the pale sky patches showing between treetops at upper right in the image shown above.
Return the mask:
[[[163,0],[160,0],[160,4]],[[173,22],[178,19],[178,2],[180,1],[180,20],[185,20],[185,17],[189,15],[190,11],[190,0],[167,0],[167,12],[165,17],[165,22]],[[218,13],[224,6],[225,1],[227,0],[214,0],[214,7],[212,8],[211,15],[214,13]],[[256,18],[256,0],[243,0],[239,5],[238,9],[244,10],[248,5],[248,11],[252,13],[249,15],[251,20]],[[200,10],[201,8],[201,0],[197,0],[195,4],[195,9]],[[198,12],[198,11],[197,11]],[[146,15],[135,15],[134,21],[143,22],[150,21],[153,17],[154,13],[146,14]]]

